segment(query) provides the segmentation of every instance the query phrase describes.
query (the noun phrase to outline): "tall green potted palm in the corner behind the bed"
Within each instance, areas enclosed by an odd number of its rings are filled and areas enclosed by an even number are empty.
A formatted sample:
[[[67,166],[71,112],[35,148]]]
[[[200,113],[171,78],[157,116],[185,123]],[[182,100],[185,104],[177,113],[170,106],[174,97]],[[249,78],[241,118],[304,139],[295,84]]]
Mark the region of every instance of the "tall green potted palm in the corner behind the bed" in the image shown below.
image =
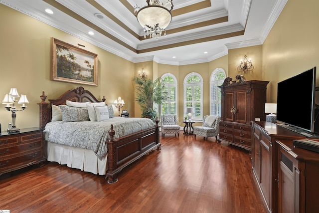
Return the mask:
[[[150,118],[155,120],[157,116],[154,104],[162,104],[168,100],[168,92],[166,91],[161,79],[156,80],[134,77],[133,81],[136,86],[136,102],[139,103],[142,110],[142,118]]]

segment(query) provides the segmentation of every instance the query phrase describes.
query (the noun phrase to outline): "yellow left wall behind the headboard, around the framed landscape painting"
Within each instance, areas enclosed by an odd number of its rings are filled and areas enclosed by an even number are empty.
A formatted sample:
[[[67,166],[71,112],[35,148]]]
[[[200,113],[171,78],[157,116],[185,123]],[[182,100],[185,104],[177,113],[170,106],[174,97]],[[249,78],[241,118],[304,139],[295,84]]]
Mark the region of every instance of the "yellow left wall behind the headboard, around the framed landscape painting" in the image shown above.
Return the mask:
[[[26,94],[29,104],[23,112],[16,114],[18,128],[38,127],[42,91],[47,99],[57,98],[66,90],[83,86],[108,104],[121,96],[128,112],[134,111],[134,63],[71,36],[61,30],[31,18],[21,12],[0,4],[0,99],[11,87],[19,94]],[[51,81],[51,43],[55,37],[69,44],[85,45],[84,49],[98,54],[98,86]],[[20,108],[20,104],[16,104]],[[11,122],[11,113],[0,108],[0,123],[5,130]],[[115,114],[117,111],[114,108]]]

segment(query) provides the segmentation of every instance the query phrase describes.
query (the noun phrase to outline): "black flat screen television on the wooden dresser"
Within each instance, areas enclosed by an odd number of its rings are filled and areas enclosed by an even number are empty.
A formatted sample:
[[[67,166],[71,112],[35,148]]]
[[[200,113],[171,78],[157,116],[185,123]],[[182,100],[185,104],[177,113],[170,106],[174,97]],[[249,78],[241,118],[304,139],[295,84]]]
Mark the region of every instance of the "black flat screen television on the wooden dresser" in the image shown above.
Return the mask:
[[[315,129],[316,67],[278,83],[277,121],[301,131],[319,133]]]

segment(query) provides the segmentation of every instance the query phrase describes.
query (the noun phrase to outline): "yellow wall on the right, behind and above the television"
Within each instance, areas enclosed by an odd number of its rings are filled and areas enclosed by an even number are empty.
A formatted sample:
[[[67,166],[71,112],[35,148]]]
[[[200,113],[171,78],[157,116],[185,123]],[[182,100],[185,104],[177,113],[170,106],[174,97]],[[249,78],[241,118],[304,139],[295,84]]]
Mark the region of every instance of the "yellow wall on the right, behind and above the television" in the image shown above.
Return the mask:
[[[270,81],[268,103],[277,102],[278,82],[319,67],[318,8],[318,0],[289,0],[263,43],[264,80]],[[298,95],[292,100],[292,108],[299,104]]]

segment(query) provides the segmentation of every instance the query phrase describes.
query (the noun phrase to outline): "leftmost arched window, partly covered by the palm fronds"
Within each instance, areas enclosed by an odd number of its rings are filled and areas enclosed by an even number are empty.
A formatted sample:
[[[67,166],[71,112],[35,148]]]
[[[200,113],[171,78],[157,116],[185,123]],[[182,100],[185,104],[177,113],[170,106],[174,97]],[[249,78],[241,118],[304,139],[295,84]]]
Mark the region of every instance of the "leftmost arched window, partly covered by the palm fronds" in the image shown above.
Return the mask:
[[[165,73],[161,76],[164,83],[164,92],[169,99],[161,104],[161,115],[177,115],[177,79],[173,74]]]

